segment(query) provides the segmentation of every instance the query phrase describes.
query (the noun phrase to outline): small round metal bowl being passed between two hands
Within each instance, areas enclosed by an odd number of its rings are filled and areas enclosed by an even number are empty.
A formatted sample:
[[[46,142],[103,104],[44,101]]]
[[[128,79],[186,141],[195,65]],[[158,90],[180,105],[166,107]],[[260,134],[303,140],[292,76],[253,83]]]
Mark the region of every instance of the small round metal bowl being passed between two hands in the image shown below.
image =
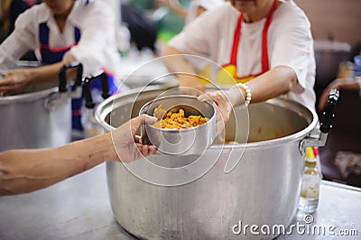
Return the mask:
[[[142,127],[143,143],[153,144],[159,152],[168,155],[201,154],[213,143],[216,137],[216,109],[210,102],[186,95],[159,97],[142,106],[139,115],[153,115],[155,107],[161,104],[167,112],[178,112],[181,108],[185,116],[202,115],[208,117],[208,121],[184,129],[145,125]]]

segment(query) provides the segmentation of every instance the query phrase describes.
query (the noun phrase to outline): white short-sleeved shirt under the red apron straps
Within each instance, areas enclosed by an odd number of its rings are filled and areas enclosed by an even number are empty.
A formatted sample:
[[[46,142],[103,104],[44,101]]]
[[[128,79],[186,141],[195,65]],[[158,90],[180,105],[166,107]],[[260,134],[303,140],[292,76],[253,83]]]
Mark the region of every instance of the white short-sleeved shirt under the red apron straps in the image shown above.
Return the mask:
[[[194,54],[222,66],[229,62],[239,12],[230,4],[202,14],[169,43],[181,53]],[[239,76],[261,71],[262,32],[265,18],[255,23],[242,23],[237,55]],[[289,97],[312,109],[316,64],[310,22],[293,1],[277,7],[268,30],[270,68],[287,66],[296,72],[298,85]],[[272,80],[272,79],[270,79]]]

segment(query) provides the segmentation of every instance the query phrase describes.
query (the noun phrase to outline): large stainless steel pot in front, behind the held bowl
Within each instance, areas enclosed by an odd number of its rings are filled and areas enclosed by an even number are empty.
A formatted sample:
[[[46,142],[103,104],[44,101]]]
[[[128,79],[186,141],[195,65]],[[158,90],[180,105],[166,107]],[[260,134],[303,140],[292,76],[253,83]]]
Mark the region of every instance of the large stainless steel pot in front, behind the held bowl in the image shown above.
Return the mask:
[[[164,90],[135,89],[108,98],[97,107],[97,121],[110,131]],[[245,139],[247,123],[236,122],[245,115],[245,109],[235,109],[227,124],[227,140]],[[118,223],[142,239],[273,238],[251,235],[249,229],[247,235],[235,235],[233,230],[238,230],[239,221],[243,226],[289,226],[298,207],[304,147],[312,142],[309,135],[317,125],[317,115],[292,100],[275,98],[250,106],[249,117],[252,143],[213,144],[195,167],[190,163],[199,156],[153,155],[126,165],[107,162],[109,198]],[[236,162],[242,154],[236,167],[226,173],[227,161]],[[205,174],[192,175],[197,168],[208,167],[215,156],[218,161]],[[153,163],[164,171],[153,168]],[[177,184],[177,173],[192,180]]]

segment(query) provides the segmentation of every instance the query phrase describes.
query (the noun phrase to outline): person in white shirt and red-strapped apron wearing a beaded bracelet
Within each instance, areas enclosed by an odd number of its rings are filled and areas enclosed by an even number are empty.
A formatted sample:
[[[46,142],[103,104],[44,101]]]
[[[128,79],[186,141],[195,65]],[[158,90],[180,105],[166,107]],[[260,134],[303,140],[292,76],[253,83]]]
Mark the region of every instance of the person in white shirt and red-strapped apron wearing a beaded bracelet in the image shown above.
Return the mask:
[[[216,102],[227,97],[237,106],[287,95],[314,109],[316,67],[306,15],[292,0],[228,2],[199,16],[163,52],[198,55],[223,69],[215,74],[214,69],[194,69],[186,58],[166,62],[169,69],[199,74],[219,85],[238,83],[225,92],[207,94]],[[180,87],[205,90],[199,78],[179,79]]]

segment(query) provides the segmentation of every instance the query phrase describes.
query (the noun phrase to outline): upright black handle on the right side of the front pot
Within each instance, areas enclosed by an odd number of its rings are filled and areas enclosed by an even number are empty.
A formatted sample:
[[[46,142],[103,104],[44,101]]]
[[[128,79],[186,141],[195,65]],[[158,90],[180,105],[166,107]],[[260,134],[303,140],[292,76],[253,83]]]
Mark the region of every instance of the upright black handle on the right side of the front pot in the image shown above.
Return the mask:
[[[324,146],[326,144],[327,136],[332,129],[333,120],[335,118],[336,104],[338,103],[339,92],[334,88],[329,91],[329,101],[322,112],[322,119],[320,121],[317,133],[312,133],[304,138],[300,143],[301,153],[306,152],[307,147]],[[316,136],[314,135],[316,134]],[[313,135],[313,136],[312,136]]]

